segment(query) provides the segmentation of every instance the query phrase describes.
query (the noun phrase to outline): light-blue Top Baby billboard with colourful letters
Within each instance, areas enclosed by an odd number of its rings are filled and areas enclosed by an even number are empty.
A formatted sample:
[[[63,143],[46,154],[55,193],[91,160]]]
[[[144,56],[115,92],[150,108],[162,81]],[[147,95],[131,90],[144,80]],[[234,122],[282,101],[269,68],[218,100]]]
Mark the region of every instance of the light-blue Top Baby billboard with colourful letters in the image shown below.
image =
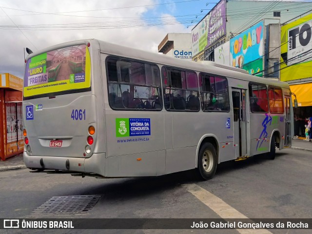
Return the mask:
[[[230,64],[262,77],[263,21],[230,40]],[[258,73],[259,72],[259,73]]]

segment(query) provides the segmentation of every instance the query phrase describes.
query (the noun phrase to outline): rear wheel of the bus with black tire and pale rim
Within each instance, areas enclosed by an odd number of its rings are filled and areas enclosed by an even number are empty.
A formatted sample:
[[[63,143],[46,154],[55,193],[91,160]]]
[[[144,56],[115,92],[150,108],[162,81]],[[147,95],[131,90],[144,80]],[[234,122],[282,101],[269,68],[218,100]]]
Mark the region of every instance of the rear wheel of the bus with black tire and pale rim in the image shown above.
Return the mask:
[[[198,154],[197,171],[202,179],[210,180],[215,175],[217,166],[215,147],[211,143],[204,143]]]

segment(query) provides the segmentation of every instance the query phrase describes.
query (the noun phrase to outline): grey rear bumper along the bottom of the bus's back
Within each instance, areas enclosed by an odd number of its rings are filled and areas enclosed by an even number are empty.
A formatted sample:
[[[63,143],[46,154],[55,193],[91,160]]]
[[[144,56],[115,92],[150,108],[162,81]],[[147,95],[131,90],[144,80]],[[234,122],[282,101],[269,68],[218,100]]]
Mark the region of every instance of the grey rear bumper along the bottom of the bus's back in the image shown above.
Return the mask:
[[[24,151],[23,160],[26,167],[32,170],[64,170],[105,176],[105,153],[94,153],[90,158],[74,158],[36,156]]]

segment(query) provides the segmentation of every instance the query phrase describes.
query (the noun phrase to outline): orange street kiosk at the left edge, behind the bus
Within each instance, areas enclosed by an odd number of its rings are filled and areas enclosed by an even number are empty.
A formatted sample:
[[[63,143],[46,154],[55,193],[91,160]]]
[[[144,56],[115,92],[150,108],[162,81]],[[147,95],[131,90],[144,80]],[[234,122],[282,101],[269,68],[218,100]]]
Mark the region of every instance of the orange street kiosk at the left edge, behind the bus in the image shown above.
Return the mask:
[[[23,80],[9,73],[0,73],[0,159],[24,150],[22,121]]]

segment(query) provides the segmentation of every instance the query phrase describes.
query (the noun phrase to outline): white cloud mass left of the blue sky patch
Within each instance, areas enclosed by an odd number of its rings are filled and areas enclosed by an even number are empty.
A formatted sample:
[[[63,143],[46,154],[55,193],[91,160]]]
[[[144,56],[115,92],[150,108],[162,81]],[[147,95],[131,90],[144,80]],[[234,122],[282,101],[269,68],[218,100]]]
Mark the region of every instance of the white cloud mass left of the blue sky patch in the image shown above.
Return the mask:
[[[73,28],[74,26],[81,26],[83,23],[83,25],[88,24],[89,28],[98,25],[99,29],[22,30],[22,32],[17,28],[15,30],[0,29],[0,72],[9,72],[22,78],[24,72],[24,47],[37,51],[37,49],[43,49],[54,44],[79,39],[96,38],[102,41],[157,52],[158,44],[167,33],[189,32],[185,26],[178,23],[174,18],[170,20],[170,24],[168,24],[167,20],[160,21],[159,19],[142,19],[143,14],[146,14],[148,11],[153,10],[156,7],[142,5],[153,5],[157,3],[158,2],[156,0],[93,0],[88,1],[88,4],[86,4],[84,0],[2,1],[0,3],[0,25],[2,26],[14,26],[15,23],[16,25],[20,25],[20,29],[22,29],[25,25],[33,25],[33,28],[36,29],[38,29],[39,26],[42,28],[50,28],[51,25],[59,26],[61,28]],[[33,12],[17,11],[8,8]],[[112,10],[112,8],[121,9]],[[111,10],[93,11],[95,9]],[[63,15],[76,15],[81,17],[34,13],[73,11],[83,12],[62,13]],[[9,15],[14,23],[6,15]],[[150,26],[142,27],[140,25]],[[108,29],[108,27],[113,28]]]

